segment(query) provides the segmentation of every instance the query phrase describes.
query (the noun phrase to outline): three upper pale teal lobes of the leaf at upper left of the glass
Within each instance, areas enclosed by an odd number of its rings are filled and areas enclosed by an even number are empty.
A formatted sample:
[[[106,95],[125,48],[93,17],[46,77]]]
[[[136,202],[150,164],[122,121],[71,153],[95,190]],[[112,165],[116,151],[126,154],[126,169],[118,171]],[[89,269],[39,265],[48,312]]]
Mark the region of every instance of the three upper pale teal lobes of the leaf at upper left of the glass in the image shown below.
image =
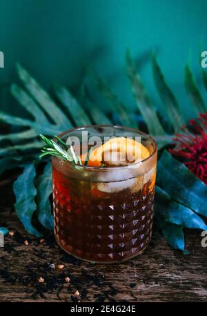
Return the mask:
[[[23,88],[16,84],[12,84],[11,93],[13,97],[19,101],[19,104],[34,117],[34,120],[14,117],[0,111],[0,121],[3,123],[30,128],[27,131],[7,136],[2,135],[0,140],[25,140],[34,138],[39,134],[53,136],[63,132],[63,130],[71,128],[73,125],[70,119],[61,111],[55,102],[52,101],[48,93],[39,86],[37,81],[19,64],[17,65],[17,70],[23,85],[31,96],[26,90],[23,90]],[[51,121],[54,123],[51,123]]]

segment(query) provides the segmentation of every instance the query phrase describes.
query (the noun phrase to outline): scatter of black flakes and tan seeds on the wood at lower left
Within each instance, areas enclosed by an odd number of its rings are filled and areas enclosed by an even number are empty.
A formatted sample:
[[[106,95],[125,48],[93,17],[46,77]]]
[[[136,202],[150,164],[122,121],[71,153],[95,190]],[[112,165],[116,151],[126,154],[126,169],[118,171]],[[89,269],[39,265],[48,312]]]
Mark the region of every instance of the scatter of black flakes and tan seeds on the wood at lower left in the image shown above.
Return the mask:
[[[66,253],[63,253],[61,249],[55,244],[54,235],[50,234],[44,237],[44,246],[41,246],[39,239],[30,237],[23,237],[21,233],[15,230],[12,242],[6,239],[5,247],[3,248],[3,253],[5,255],[0,255],[0,277],[10,284],[22,284],[28,286],[26,293],[32,299],[37,299],[41,297],[42,299],[47,299],[47,294],[56,293],[58,299],[60,300],[71,300],[72,302],[80,302],[86,299],[88,292],[90,292],[90,287],[95,287],[97,289],[97,294],[95,295],[95,300],[97,302],[115,302],[115,295],[117,294],[117,289],[112,285],[111,282],[106,280],[104,275],[99,275],[95,266],[88,264],[85,268],[79,266],[83,265],[83,261],[72,257]],[[30,247],[30,259],[27,261],[28,257],[25,257],[26,264],[23,264],[23,260],[19,261],[21,265],[21,273],[18,271],[11,271],[8,269],[10,266],[10,260],[16,260],[18,255],[28,256],[28,251],[24,251],[21,246],[28,241],[28,244],[34,246]],[[52,253],[50,252],[50,249]],[[8,256],[8,254],[13,254]],[[50,261],[57,260],[61,262],[58,266]],[[54,259],[55,258],[55,259]],[[16,262],[16,261],[15,261]],[[57,271],[60,269],[60,271]],[[64,270],[61,270],[63,269]],[[70,270],[68,270],[70,268]],[[90,269],[90,273],[87,269]],[[72,275],[72,270],[77,271],[77,275]],[[41,275],[41,277],[39,277]],[[81,289],[81,290],[80,290]],[[65,290],[68,293],[74,293],[67,296],[61,297],[61,291]]]

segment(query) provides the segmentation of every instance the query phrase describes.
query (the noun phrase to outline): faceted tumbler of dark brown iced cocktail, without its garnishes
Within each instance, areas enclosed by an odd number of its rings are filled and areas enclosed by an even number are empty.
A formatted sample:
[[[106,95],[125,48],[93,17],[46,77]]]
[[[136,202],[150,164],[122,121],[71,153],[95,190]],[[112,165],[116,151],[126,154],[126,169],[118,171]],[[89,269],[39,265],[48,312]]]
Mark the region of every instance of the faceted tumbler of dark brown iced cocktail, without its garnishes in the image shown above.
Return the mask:
[[[55,237],[63,250],[81,259],[124,261],[141,253],[150,242],[157,146],[148,135],[130,128],[85,129],[101,139],[105,135],[139,136],[149,155],[133,164],[99,167],[77,166],[52,157]],[[82,130],[60,137],[66,140]]]

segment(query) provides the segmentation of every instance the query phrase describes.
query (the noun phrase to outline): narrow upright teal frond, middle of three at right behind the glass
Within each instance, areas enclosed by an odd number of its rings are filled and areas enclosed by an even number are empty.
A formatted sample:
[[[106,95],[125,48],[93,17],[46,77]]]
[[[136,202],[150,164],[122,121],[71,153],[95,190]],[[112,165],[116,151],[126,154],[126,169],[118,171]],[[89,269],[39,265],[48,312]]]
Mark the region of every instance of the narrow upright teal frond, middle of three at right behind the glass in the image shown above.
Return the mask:
[[[161,72],[154,54],[152,55],[152,71],[159,96],[166,107],[168,117],[175,132],[178,132],[180,130],[180,126],[184,124],[184,119],[181,117],[179,105],[175,99],[175,95],[173,95],[172,91],[166,84],[164,75]]]

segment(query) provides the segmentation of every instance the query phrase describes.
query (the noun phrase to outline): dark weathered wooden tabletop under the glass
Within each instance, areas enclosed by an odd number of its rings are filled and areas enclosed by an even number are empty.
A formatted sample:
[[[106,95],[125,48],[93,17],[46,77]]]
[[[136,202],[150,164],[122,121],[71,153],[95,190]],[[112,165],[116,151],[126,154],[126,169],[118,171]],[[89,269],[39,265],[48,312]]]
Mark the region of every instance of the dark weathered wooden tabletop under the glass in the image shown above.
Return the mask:
[[[190,255],[172,250],[164,237],[155,233],[143,255],[123,264],[73,260],[53,237],[41,244],[24,232],[15,213],[11,213],[14,177],[12,172],[0,181],[0,226],[6,224],[17,231],[13,237],[6,237],[5,248],[0,248],[0,302],[206,302],[207,248],[201,247],[200,232],[186,232]],[[23,244],[26,239],[28,246]],[[55,268],[48,268],[49,264],[55,264]],[[59,264],[64,268],[58,269]],[[28,279],[31,269],[33,279]],[[45,283],[39,284],[39,277],[46,277]],[[39,294],[38,288],[47,289],[48,284],[50,290],[40,290]],[[74,295],[76,290],[79,296]]]

